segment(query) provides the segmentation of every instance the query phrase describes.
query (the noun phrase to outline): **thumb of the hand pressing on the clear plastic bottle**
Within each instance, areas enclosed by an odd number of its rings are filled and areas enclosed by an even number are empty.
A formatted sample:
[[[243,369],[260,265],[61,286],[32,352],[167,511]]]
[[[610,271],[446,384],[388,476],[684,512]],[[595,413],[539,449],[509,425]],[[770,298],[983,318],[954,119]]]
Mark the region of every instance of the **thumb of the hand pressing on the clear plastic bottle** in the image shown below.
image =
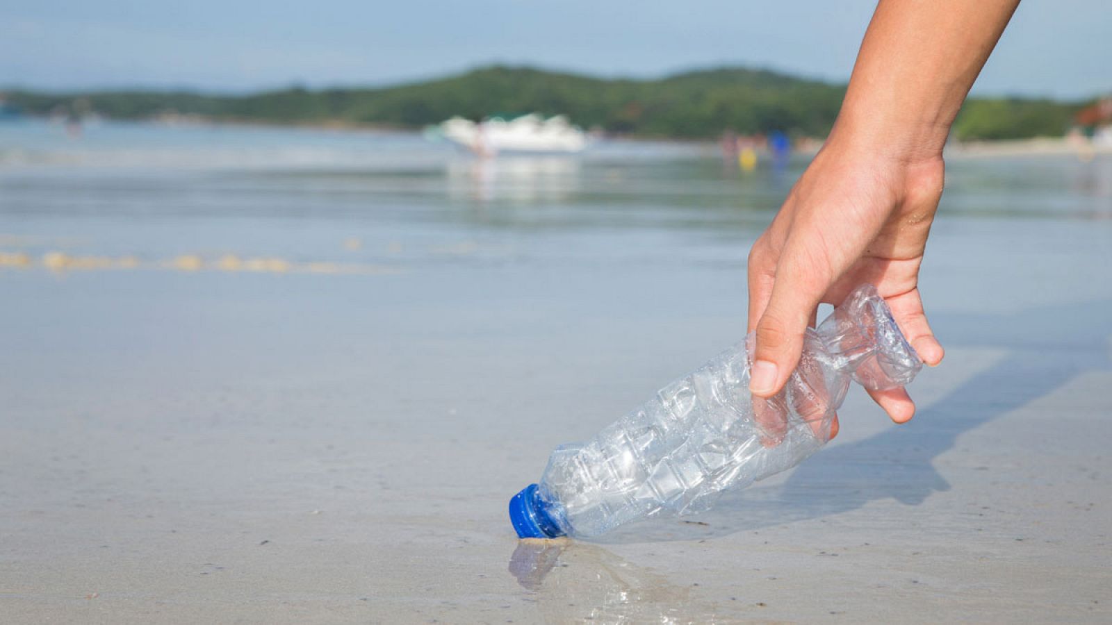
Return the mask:
[[[780,271],[777,271],[780,274]],[[749,391],[772,397],[784,387],[803,351],[803,337],[822,294],[802,288],[800,280],[777,276],[768,307],[761,315],[749,371]]]

